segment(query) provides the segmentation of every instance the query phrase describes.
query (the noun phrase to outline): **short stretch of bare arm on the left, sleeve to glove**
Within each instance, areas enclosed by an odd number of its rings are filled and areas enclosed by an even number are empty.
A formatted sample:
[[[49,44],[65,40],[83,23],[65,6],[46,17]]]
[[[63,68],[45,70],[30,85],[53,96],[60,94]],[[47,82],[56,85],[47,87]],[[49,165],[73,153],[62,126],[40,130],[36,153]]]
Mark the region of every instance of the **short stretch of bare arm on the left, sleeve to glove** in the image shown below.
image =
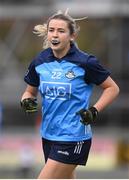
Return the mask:
[[[22,95],[21,101],[26,98],[35,98],[38,94],[38,88],[27,85],[25,92]]]

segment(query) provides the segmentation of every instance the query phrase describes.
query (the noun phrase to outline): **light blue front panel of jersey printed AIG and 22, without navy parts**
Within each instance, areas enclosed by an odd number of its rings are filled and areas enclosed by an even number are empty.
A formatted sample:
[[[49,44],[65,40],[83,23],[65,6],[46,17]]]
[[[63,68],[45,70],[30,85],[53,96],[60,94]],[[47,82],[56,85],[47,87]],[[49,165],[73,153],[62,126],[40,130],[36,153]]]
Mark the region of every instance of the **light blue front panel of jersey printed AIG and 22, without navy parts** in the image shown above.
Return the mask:
[[[84,81],[84,69],[63,60],[37,66],[36,72],[43,97],[42,136],[60,141],[89,139],[90,126],[84,126],[76,114],[88,107],[92,90]]]

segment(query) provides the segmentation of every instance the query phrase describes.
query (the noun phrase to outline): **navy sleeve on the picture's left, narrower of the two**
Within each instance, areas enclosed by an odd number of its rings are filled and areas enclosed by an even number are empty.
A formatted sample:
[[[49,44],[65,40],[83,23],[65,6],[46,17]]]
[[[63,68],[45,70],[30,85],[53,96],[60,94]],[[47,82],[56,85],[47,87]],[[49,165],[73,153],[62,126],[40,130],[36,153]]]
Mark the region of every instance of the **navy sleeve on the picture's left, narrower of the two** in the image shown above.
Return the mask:
[[[28,70],[24,76],[24,81],[31,86],[39,86],[39,76],[35,70],[35,60],[33,60],[29,65]]]

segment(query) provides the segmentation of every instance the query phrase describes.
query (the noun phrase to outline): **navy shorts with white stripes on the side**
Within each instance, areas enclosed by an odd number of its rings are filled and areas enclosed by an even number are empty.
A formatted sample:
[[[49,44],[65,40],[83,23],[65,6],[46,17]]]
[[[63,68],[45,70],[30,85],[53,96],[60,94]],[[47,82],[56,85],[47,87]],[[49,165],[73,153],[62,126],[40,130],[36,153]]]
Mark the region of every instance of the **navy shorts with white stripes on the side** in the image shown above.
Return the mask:
[[[58,142],[42,139],[45,162],[48,158],[65,164],[86,165],[91,139],[79,142]]]

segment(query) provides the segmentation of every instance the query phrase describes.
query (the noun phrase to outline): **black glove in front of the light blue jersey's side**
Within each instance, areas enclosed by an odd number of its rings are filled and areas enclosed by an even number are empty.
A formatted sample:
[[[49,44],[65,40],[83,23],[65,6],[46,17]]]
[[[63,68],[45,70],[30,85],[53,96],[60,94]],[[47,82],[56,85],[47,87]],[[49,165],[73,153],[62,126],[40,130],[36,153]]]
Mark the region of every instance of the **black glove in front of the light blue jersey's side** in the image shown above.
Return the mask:
[[[81,123],[84,125],[92,124],[97,116],[98,116],[98,110],[95,107],[90,107],[89,109],[81,109],[77,112],[81,116]]]

